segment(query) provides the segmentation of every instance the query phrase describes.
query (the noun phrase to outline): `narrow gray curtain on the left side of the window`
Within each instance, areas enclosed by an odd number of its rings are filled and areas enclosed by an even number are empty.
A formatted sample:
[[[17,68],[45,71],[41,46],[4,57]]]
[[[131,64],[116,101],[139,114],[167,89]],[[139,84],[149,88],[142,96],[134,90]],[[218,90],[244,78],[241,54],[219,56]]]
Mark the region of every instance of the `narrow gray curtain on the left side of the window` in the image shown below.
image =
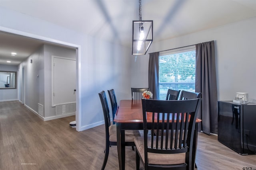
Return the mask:
[[[159,80],[159,52],[150,53],[148,61],[148,87],[153,94],[153,99],[158,99]]]

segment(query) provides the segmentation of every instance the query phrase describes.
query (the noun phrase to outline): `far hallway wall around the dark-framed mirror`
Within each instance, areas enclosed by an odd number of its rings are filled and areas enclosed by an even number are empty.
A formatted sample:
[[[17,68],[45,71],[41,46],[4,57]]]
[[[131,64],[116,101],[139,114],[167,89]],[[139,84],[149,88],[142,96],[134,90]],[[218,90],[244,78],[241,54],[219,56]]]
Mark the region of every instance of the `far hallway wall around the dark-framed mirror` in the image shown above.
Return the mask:
[[[0,64],[0,71],[18,71],[17,66]],[[18,73],[16,74],[18,76]],[[16,82],[18,87],[18,82]],[[0,89],[0,102],[18,100],[18,88],[16,89]]]

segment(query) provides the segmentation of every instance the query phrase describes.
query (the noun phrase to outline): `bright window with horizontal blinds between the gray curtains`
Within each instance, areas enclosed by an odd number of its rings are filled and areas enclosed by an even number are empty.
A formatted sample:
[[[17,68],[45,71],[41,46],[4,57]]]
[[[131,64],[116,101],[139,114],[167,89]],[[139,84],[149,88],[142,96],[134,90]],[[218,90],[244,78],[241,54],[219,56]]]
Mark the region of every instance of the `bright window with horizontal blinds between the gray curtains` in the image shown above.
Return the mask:
[[[196,49],[176,49],[159,55],[159,100],[165,100],[168,89],[195,91]]]

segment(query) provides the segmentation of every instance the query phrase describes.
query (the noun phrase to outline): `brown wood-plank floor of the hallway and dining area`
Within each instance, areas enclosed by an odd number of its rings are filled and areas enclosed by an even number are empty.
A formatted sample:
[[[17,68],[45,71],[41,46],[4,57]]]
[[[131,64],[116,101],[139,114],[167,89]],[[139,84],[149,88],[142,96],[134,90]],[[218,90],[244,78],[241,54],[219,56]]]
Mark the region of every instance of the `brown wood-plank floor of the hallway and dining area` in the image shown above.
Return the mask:
[[[1,170],[100,170],[104,159],[104,125],[78,132],[75,117],[42,121],[20,102],[0,102]],[[198,170],[256,169],[256,155],[239,155],[198,133]],[[118,170],[116,147],[110,147],[106,170]],[[126,147],[126,169],[135,170],[135,151]],[[143,170],[141,164],[140,167]]]

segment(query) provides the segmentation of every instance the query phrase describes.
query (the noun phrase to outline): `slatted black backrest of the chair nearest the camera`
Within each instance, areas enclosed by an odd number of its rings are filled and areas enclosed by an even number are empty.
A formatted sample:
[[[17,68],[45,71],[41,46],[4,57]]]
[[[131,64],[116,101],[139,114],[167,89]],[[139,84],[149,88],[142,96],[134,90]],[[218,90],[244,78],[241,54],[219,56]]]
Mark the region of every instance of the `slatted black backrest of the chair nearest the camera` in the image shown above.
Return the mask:
[[[186,159],[192,158],[193,133],[201,100],[142,100],[145,164],[148,163],[148,152],[186,152]],[[155,134],[154,129],[158,133]],[[148,131],[151,131],[150,135]]]

